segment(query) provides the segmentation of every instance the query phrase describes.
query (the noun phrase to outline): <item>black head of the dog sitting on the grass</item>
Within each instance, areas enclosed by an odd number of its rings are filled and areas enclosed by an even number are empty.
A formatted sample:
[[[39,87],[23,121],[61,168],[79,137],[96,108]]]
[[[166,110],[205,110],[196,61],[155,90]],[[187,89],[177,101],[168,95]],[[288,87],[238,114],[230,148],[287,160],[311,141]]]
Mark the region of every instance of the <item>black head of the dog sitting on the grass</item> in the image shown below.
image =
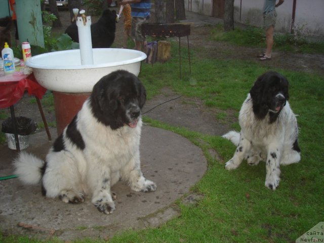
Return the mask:
[[[250,90],[254,114],[263,119],[269,112],[270,123],[273,123],[289,99],[288,85],[286,77],[274,71],[258,77]]]

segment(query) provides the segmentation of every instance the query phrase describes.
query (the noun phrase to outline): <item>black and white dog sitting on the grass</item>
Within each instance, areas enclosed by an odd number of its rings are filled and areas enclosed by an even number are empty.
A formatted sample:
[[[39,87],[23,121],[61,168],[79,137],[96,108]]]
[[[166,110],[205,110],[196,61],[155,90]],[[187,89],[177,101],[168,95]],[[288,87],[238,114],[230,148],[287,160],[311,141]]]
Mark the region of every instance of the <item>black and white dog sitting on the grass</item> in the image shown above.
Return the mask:
[[[265,186],[275,190],[280,180],[280,165],[298,163],[298,127],[288,103],[288,80],[268,71],[251,88],[239,111],[240,133],[231,131],[224,138],[236,146],[227,161],[227,170],[236,169],[245,158],[249,165],[266,162]]]

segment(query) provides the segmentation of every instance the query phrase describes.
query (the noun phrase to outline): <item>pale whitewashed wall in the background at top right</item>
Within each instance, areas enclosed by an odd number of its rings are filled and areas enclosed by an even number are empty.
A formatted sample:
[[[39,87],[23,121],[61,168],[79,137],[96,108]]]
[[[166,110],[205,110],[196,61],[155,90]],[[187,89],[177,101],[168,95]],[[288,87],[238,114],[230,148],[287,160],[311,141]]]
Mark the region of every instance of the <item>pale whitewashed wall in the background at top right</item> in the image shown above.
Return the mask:
[[[212,0],[184,0],[184,2],[188,11],[212,15]],[[262,27],[263,2],[264,0],[234,0],[234,21]],[[293,0],[285,0],[276,8],[276,12],[278,17],[275,31],[290,32]],[[294,32],[324,38],[324,0],[296,1]]]

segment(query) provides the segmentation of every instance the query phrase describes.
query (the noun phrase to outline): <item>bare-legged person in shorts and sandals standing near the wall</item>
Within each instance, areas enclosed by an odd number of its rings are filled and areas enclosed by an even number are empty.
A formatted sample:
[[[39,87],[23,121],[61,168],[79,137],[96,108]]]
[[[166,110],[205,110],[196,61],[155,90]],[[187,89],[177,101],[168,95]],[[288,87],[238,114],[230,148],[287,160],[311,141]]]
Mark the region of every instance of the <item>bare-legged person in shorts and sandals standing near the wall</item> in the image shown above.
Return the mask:
[[[265,29],[265,37],[267,50],[264,54],[261,54],[260,60],[270,60],[271,59],[271,51],[273,46],[273,32],[274,26],[276,22],[277,13],[275,8],[284,3],[285,0],[278,0],[276,4],[276,0],[264,0],[263,4],[263,25]]]

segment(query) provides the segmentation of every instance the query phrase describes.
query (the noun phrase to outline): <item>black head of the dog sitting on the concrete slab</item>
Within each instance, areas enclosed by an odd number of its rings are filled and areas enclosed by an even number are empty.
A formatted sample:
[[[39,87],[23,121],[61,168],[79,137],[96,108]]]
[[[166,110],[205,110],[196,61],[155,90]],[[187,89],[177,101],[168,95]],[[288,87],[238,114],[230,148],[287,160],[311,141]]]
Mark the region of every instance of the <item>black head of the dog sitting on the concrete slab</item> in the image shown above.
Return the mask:
[[[140,80],[124,70],[103,76],[94,86],[90,104],[100,123],[115,130],[123,126],[135,128],[146,100]]]

